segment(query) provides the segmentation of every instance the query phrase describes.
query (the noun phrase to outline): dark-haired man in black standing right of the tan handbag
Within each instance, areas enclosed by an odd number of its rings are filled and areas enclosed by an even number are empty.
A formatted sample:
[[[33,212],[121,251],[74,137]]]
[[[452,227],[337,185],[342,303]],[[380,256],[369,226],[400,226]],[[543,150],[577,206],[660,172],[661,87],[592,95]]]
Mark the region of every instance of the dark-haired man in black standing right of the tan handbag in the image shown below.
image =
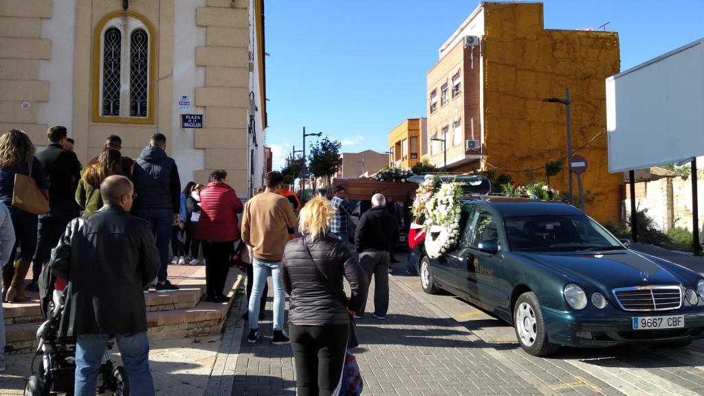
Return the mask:
[[[46,131],[49,146],[37,154],[42,163],[46,179],[49,180],[48,214],[39,216],[37,226],[37,249],[32,259],[32,283],[27,290],[38,292],[39,273],[49,262],[51,248],[56,246],[61,233],[71,219],[78,216],[76,183],[81,178],[81,163],[73,151],[64,149],[68,140],[66,127],[55,125]]]

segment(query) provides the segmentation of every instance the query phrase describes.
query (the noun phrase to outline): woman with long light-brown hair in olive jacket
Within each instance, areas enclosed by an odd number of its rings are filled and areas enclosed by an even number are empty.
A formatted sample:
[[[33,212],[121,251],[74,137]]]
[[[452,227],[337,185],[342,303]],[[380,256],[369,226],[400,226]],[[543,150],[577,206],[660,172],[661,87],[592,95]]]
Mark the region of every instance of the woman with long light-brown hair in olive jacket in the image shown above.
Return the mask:
[[[98,162],[87,166],[78,181],[76,202],[83,210],[83,217],[88,217],[103,207],[100,183],[112,175],[125,176],[122,173],[122,156],[119,150],[106,147],[98,156]]]

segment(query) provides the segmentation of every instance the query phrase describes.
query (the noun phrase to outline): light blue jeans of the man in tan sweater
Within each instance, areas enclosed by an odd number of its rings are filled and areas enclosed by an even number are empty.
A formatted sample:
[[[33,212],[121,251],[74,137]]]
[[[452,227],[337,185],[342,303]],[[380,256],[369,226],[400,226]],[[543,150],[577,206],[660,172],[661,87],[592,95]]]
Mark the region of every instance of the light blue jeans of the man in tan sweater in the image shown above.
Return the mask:
[[[274,283],[274,330],[284,330],[284,309],[286,309],[286,293],[281,284],[279,267],[281,261],[263,261],[253,259],[252,266],[252,296],[249,297],[249,328],[259,328],[259,299],[262,297],[264,285],[271,275]]]

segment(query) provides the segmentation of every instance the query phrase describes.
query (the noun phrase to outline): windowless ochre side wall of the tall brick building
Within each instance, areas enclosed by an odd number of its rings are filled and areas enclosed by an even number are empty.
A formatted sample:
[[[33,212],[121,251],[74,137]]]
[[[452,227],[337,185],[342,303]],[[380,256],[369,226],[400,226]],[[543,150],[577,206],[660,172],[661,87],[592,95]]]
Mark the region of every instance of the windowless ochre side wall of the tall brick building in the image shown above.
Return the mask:
[[[572,148],[595,137],[606,127],[605,79],[620,70],[618,34],[545,29],[540,3],[486,3],[484,12],[484,160],[517,182],[544,180],[542,170],[515,172],[567,155],[565,106],[542,99],[564,97],[570,87]],[[607,135],[579,154],[589,163],[584,190],[595,196],[589,214],[616,221],[623,180],[608,173]],[[551,177],[561,191],[568,190],[566,169]]]

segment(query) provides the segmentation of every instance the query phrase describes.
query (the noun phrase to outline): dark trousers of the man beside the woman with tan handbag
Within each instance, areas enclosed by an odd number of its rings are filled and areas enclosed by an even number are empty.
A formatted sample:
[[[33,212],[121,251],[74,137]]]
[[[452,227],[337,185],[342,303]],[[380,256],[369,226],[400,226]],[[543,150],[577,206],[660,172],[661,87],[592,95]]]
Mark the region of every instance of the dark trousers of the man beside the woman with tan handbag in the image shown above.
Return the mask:
[[[32,283],[37,283],[44,264],[49,263],[49,259],[51,259],[51,249],[54,249],[58,244],[58,240],[66,230],[66,225],[77,216],[78,212],[71,210],[67,210],[66,213],[58,210],[51,211],[39,216],[37,249],[32,258]]]

